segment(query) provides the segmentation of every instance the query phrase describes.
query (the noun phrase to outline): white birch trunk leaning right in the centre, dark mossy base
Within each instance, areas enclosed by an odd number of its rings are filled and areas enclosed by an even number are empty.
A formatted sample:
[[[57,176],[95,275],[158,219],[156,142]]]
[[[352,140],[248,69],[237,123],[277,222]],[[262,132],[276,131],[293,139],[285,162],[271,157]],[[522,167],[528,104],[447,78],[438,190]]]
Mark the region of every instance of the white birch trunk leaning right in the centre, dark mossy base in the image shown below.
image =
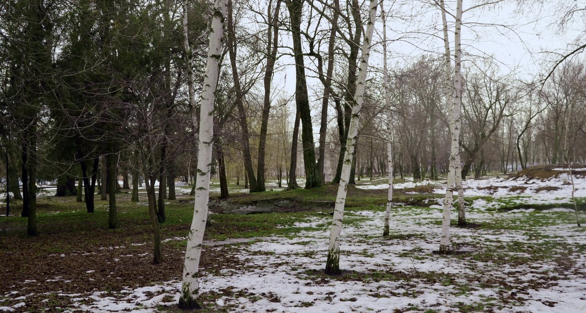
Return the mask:
[[[368,61],[370,57],[372,34],[374,32],[374,22],[376,19],[377,4],[377,0],[370,0],[370,16],[368,25],[366,27],[366,36],[364,37],[364,42],[362,43],[362,56],[360,57],[356,93],[354,95],[356,105],[352,107],[352,117],[350,117],[350,127],[348,130],[348,138],[346,142],[346,152],[344,153],[342,175],[340,176],[338,196],[336,197],[336,205],[334,207],[333,212],[332,230],[330,233],[328,245],[328,259],[326,261],[325,271],[329,274],[340,273],[340,233],[342,233],[342,219],[344,217],[346,192],[348,187],[348,181],[350,179],[350,168],[352,167],[352,158],[354,155],[354,148],[356,144],[356,135],[358,133],[358,113],[360,111],[360,108],[362,108],[362,102],[364,100],[366,74],[368,69]]]

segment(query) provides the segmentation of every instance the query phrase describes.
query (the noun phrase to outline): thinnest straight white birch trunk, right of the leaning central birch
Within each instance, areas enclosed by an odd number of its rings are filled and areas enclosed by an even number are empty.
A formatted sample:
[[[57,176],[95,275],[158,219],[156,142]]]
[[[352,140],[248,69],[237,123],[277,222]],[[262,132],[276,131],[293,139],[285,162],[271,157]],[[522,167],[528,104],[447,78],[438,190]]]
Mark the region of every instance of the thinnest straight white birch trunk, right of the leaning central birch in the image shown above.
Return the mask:
[[[384,107],[391,111],[391,91],[389,87],[389,69],[387,69],[387,19],[384,14],[383,2],[380,4],[383,19],[383,83],[384,83]],[[387,121],[387,159],[389,162],[389,193],[387,195],[387,209],[384,211],[383,236],[389,236],[389,219],[391,207],[393,207],[393,122],[391,114]]]

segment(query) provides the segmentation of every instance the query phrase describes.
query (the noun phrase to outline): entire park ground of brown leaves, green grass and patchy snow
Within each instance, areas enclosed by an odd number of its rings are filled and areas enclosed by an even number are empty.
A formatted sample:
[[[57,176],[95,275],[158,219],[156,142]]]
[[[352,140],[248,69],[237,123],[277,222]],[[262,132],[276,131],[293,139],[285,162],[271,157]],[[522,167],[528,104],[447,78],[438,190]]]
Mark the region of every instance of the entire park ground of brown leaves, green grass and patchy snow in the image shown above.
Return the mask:
[[[563,173],[466,181],[469,226],[452,224],[445,256],[435,253],[445,181],[397,180],[387,237],[385,186],[379,179],[349,189],[339,276],[323,274],[329,209],[212,215],[200,312],[586,312],[586,227],[575,226]],[[335,189],[233,200],[333,200]],[[26,236],[26,219],[2,217],[0,312],[182,312],[176,303],[192,204],[169,201],[163,264],[152,265],[146,200],[117,198],[115,230],[107,229],[106,201],[88,214],[74,197],[39,198],[38,237]]]

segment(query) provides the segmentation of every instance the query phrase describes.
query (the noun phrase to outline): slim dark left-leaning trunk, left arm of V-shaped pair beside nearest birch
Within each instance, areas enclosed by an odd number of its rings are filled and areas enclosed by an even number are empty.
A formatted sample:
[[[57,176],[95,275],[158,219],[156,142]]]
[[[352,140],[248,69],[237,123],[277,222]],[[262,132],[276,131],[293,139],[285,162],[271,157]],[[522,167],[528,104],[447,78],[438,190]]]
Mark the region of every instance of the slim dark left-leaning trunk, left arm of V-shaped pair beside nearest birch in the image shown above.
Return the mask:
[[[248,123],[246,121],[246,108],[244,108],[244,92],[242,87],[240,86],[240,77],[238,76],[238,69],[236,66],[236,56],[237,56],[237,42],[236,42],[236,29],[234,29],[234,22],[232,17],[232,12],[230,12],[226,16],[227,19],[227,40],[226,46],[229,51],[230,55],[230,65],[232,69],[232,79],[234,80],[234,91],[236,91],[236,98],[234,102],[236,103],[236,107],[238,108],[239,114],[239,123],[241,132],[241,141],[242,141],[242,154],[244,155],[244,169],[246,169],[246,174],[248,176],[248,183],[250,186],[250,192],[258,192],[258,183],[257,179],[254,176],[254,168],[252,162],[252,156],[250,154],[250,134],[248,132]]]

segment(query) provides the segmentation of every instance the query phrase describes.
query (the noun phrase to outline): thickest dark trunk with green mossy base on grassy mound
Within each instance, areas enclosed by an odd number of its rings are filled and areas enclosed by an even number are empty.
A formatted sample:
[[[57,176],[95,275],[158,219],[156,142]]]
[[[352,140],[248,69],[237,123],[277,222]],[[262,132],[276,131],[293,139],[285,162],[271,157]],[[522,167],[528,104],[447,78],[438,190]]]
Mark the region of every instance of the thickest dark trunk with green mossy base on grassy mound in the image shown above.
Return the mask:
[[[301,16],[304,0],[291,0],[288,4],[295,54],[295,104],[301,117],[301,144],[303,145],[303,164],[305,167],[305,189],[322,185],[321,175],[315,160],[314,132],[311,123],[311,108],[305,80],[305,63],[301,45]]]

